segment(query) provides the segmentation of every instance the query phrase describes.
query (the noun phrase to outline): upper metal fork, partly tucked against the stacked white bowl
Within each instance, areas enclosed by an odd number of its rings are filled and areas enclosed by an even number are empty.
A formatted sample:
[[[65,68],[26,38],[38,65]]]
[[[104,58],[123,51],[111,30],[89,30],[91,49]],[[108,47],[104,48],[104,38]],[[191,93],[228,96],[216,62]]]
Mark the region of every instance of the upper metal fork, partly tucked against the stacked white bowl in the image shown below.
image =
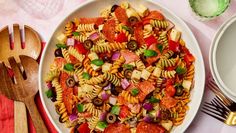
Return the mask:
[[[216,97],[221,100],[225,106],[227,106],[231,111],[236,111],[236,103],[234,101],[232,101],[231,99],[229,99],[228,97],[226,97],[219,89],[219,87],[216,85],[215,81],[213,78],[210,78],[208,84],[207,84],[208,88],[211,89]]]

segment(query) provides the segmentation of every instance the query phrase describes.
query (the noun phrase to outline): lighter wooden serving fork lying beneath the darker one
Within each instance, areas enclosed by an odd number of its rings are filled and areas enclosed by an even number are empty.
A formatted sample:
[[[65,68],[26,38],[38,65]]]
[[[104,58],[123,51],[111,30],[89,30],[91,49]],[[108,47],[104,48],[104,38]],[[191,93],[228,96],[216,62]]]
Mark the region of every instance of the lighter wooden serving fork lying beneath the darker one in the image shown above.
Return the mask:
[[[14,33],[14,47],[10,48],[10,34],[8,26],[0,30],[0,61],[4,62],[8,67],[9,57],[14,57],[19,63],[19,55],[27,55],[35,60],[39,57],[41,52],[41,40],[36,31],[29,26],[24,27],[25,31],[25,44],[22,47],[21,32],[18,24],[13,25]],[[22,70],[23,71],[23,70]],[[3,89],[3,87],[0,88]],[[27,115],[25,105],[22,102],[14,101],[14,132],[15,133],[28,133]]]

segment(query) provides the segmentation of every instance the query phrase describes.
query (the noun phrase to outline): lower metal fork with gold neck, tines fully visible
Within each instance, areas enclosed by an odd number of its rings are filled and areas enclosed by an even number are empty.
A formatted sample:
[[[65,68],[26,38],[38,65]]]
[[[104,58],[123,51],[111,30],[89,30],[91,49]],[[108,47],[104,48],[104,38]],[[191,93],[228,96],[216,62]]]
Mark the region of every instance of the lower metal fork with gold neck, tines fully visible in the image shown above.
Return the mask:
[[[219,98],[214,98],[211,103],[205,102],[201,111],[229,126],[236,125],[236,112],[230,111]]]

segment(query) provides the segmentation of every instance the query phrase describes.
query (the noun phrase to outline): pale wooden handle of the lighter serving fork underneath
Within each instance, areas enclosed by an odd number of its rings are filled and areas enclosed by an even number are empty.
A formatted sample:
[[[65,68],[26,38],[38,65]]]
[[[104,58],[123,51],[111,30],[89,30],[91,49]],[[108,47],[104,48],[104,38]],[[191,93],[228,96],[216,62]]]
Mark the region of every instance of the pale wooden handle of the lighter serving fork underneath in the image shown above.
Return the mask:
[[[28,133],[25,104],[14,101],[14,133]]]

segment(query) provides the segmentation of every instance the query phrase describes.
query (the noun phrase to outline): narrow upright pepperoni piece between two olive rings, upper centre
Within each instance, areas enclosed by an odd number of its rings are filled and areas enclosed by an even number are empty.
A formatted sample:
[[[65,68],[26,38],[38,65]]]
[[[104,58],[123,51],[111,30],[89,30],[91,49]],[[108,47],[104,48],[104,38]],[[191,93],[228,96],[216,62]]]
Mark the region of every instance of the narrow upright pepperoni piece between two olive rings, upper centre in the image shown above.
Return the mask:
[[[141,22],[137,23],[134,27],[134,37],[139,43],[139,47],[145,43],[143,36],[143,24]]]

